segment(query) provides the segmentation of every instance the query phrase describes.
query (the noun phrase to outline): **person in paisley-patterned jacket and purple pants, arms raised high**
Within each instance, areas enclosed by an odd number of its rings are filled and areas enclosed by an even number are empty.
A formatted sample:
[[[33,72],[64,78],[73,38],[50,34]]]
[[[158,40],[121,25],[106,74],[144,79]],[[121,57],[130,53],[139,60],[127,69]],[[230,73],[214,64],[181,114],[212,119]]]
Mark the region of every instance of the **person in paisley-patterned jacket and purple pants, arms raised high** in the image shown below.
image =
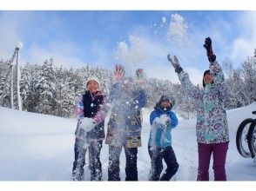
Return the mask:
[[[178,73],[179,81],[197,105],[196,134],[199,151],[198,181],[209,181],[209,165],[213,156],[215,181],[226,181],[226,153],[229,133],[226,120],[226,82],[224,74],[212,51],[212,40],[205,38],[204,47],[209,60],[209,69],[203,76],[204,89],[195,87],[188,74],[180,67],[176,56],[167,58]]]

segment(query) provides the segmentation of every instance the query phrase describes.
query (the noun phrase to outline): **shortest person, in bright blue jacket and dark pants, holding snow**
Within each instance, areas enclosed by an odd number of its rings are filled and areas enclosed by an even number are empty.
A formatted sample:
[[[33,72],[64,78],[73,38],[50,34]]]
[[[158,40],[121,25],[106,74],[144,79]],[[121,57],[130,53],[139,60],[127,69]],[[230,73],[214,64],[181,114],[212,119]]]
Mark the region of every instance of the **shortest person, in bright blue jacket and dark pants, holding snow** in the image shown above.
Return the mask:
[[[173,101],[166,95],[162,95],[159,102],[150,115],[152,125],[148,142],[149,155],[151,157],[152,169],[149,181],[170,181],[179,168],[175,153],[172,149],[171,130],[178,125],[178,118],[172,109]],[[163,159],[167,165],[165,174],[163,170]]]

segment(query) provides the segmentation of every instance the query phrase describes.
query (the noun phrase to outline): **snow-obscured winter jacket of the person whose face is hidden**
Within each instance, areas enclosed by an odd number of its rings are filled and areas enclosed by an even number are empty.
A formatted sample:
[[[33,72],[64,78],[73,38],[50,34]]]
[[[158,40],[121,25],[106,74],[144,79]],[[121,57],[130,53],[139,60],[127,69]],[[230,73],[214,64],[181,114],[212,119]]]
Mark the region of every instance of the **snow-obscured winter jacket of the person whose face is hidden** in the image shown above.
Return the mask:
[[[111,117],[106,135],[106,144],[111,146],[125,146],[129,130],[132,136],[140,139],[141,109],[145,107],[146,95],[144,89],[131,88],[124,87],[122,82],[116,82],[111,87]]]

